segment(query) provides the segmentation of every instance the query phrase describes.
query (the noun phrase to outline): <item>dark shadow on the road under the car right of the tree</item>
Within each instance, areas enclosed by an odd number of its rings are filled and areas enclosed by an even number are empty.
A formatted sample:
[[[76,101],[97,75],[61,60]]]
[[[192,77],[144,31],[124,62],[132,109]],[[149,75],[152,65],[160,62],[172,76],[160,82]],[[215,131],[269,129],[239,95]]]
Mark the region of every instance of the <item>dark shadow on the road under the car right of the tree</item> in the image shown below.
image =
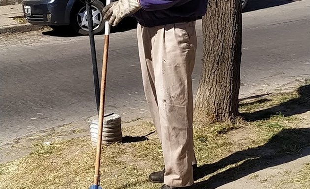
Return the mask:
[[[294,0],[249,0],[248,6],[243,12],[250,12],[274,6],[280,6],[288,3],[295,2]]]

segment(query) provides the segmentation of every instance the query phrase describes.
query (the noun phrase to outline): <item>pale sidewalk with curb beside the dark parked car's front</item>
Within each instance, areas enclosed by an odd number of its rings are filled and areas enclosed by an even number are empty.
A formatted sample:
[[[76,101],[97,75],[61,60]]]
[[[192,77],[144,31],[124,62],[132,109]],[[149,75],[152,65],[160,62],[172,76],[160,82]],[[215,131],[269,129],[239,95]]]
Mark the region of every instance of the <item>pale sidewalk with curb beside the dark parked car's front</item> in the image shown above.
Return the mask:
[[[19,16],[24,16],[21,4],[0,6],[0,35],[46,28],[46,26],[36,26],[29,23],[22,24],[13,20],[14,17]]]

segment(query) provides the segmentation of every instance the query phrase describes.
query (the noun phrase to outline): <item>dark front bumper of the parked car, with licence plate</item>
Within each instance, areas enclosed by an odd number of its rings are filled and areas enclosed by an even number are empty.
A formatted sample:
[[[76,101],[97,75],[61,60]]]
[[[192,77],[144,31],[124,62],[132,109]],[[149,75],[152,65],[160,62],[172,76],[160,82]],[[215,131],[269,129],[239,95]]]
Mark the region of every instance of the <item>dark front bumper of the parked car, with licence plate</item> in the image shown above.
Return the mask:
[[[68,0],[24,0],[22,2],[27,21],[34,25],[68,25],[65,12]],[[31,14],[25,14],[24,6],[31,7]]]

